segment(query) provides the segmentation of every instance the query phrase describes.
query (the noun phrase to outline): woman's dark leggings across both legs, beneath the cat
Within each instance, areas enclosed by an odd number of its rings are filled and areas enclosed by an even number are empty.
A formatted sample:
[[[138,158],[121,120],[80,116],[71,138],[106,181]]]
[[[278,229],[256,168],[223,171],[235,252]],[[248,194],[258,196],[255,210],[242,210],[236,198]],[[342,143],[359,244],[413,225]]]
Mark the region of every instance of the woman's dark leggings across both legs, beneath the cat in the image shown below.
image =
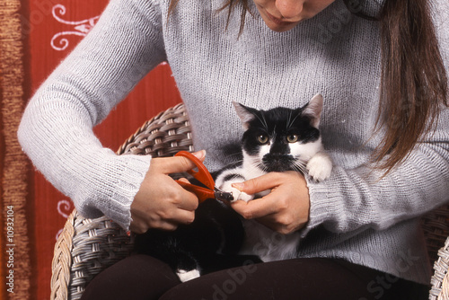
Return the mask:
[[[428,288],[343,260],[295,259],[265,263],[245,260],[180,283],[165,263],[134,255],[104,270],[82,300],[344,299],[425,300]]]

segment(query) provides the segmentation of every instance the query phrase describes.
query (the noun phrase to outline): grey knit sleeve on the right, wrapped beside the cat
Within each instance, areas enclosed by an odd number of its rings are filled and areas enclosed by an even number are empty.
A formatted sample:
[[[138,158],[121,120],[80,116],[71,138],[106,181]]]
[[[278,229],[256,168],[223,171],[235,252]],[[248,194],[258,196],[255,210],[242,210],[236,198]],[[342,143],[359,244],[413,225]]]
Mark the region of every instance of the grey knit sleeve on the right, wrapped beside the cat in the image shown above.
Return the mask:
[[[308,182],[311,210],[304,235],[323,225],[334,233],[383,230],[449,200],[449,114],[432,139],[420,143],[383,176],[367,166],[335,166],[328,181]]]

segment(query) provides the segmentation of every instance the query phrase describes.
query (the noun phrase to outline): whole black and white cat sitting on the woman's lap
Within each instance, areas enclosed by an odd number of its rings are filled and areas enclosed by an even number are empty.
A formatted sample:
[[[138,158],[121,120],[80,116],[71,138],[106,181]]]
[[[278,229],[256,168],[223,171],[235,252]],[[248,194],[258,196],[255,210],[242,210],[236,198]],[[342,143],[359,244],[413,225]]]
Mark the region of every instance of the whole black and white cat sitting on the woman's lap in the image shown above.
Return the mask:
[[[314,181],[330,176],[332,162],[321,144],[322,97],[313,97],[304,107],[291,110],[255,110],[233,102],[242,119],[242,160],[216,172],[216,186],[233,193],[234,200],[250,201],[234,189],[234,182],[247,181],[267,172],[296,171]],[[251,258],[252,261],[285,260],[295,257],[299,235],[277,234],[257,221],[243,220],[231,207],[207,199],[195,212],[191,225],[180,225],[174,232],[150,229],[136,236],[136,250],[168,263],[181,281]],[[231,259],[230,259],[231,258]],[[260,261],[259,260],[259,261]],[[211,267],[212,266],[212,267]]]

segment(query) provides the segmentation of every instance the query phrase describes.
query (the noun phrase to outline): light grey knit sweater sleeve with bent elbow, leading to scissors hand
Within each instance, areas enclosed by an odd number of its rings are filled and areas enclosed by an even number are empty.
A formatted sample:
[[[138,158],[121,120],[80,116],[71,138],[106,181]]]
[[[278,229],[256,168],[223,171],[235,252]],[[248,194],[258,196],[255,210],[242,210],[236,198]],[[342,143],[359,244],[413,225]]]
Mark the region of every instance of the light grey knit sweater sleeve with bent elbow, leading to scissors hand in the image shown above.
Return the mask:
[[[114,154],[92,128],[165,59],[157,9],[152,1],[110,1],[34,94],[18,132],[36,168],[83,216],[109,216],[124,228],[151,157]]]

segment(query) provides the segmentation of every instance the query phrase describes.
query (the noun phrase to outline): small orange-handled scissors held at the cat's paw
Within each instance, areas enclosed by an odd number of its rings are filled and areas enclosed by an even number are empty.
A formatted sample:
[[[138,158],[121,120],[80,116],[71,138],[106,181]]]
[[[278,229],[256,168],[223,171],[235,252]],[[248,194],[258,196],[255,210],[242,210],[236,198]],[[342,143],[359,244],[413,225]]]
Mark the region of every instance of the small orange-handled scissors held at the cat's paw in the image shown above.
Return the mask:
[[[198,185],[194,185],[187,182],[182,181],[176,181],[180,184],[182,188],[185,190],[189,190],[190,192],[197,195],[199,199],[199,203],[203,202],[206,199],[217,199],[220,201],[232,201],[233,200],[233,194],[229,192],[225,192],[224,190],[220,190],[216,188],[216,182],[212,178],[212,175],[210,172],[207,171],[206,166],[201,163],[201,161],[195,157],[193,154],[187,152],[187,151],[180,151],[177,154],[174,154],[175,156],[184,156],[189,158],[189,160],[192,163],[195,163],[197,166],[198,172],[195,172],[194,170],[189,170],[189,174],[192,175],[197,181],[201,182],[206,186],[206,188],[200,187]]]

